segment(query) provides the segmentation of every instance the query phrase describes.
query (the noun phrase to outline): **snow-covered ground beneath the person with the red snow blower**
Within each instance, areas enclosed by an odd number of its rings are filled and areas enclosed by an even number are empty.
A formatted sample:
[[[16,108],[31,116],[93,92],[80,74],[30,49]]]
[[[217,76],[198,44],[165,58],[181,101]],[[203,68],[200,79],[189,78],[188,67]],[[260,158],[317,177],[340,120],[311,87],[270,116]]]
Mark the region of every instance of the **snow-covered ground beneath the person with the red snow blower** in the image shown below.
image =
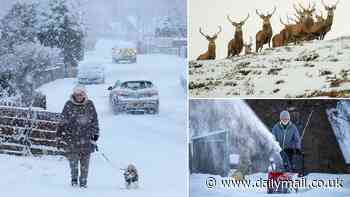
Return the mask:
[[[208,189],[206,186],[206,180],[208,177],[213,177],[217,181],[217,185],[215,188]],[[249,175],[246,177],[247,180],[251,181],[251,185],[255,185],[258,180],[266,180],[266,173],[257,173],[253,175]],[[240,187],[224,187],[219,182],[220,180],[228,180],[228,178],[222,178],[216,175],[208,175],[208,174],[192,174],[190,176],[190,196],[191,197],[254,197],[254,196],[273,196],[273,197],[284,197],[284,196],[322,196],[322,197],[344,197],[350,196],[350,176],[349,175],[334,175],[334,174],[320,174],[320,173],[312,173],[305,177],[307,183],[310,183],[314,180],[323,180],[327,182],[327,180],[343,180],[343,187],[339,188],[299,188],[298,193],[292,192],[289,194],[267,194],[266,188],[247,188],[241,185]]]

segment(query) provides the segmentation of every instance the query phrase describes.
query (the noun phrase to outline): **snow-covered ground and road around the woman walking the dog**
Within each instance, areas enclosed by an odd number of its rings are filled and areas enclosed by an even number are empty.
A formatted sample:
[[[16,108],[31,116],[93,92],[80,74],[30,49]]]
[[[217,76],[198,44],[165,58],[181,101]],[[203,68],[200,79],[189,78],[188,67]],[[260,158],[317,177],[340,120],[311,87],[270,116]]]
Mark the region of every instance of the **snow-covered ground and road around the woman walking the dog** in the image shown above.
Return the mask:
[[[88,189],[71,188],[64,158],[24,158],[0,155],[0,196],[186,196],[186,96],[179,78],[186,61],[175,56],[140,55],[136,64],[112,63],[113,40],[99,40],[86,62],[105,66],[106,83],[87,86],[100,123],[100,150],[94,153]],[[159,115],[113,115],[108,86],[117,79],[150,79],[160,92]],[[76,79],[61,79],[40,87],[49,111],[61,112]],[[125,190],[119,168],[133,163],[140,173],[140,189]]]

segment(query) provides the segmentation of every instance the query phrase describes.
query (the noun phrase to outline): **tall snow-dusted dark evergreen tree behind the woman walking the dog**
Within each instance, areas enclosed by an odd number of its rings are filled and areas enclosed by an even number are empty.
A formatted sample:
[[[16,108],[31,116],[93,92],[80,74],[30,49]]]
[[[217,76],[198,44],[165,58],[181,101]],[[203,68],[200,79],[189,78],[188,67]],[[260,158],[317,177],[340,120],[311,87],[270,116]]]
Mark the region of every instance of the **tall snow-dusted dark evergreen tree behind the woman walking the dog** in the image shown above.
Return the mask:
[[[40,15],[39,40],[62,49],[67,66],[76,66],[84,54],[84,27],[79,14],[69,9],[66,0],[50,0]]]

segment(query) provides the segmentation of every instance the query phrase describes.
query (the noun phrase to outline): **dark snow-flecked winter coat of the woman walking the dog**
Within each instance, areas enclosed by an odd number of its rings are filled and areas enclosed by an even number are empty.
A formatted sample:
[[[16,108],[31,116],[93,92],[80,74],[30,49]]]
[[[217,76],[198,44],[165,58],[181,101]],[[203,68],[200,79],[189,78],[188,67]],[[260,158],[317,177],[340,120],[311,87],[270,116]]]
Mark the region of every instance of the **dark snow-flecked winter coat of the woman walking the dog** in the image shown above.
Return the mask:
[[[95,106],[91,100],[77,103],[73,96],[66,102],[62,111],[62,121],[57,137],[65,144],[66,154],[92,153],[95,144],[92,138],[99,135],[98,119]]]

